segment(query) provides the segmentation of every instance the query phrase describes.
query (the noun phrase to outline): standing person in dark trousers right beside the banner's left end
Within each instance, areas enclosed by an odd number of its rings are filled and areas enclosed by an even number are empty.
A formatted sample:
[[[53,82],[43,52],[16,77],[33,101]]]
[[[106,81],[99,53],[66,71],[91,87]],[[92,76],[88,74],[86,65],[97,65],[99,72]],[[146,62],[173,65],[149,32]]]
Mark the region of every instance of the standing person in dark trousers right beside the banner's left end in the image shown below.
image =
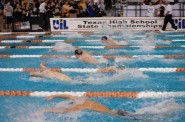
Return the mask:
[[[49,25],[50,25],[50,18],[53,17],[53,11],[52,11],[52,6],[50,3],[47,4],[46,6],[46,30],[48,30]]]

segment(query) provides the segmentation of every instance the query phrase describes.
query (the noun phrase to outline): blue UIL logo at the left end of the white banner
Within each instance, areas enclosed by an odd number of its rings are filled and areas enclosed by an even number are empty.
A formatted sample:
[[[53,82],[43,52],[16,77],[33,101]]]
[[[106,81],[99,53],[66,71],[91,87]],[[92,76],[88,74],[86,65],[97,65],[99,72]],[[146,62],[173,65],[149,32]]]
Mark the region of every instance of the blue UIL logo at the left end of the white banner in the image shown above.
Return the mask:
[[[53,28],[54,30],[67,30],[67,21],[60,19],[60,20],[53,20]]]

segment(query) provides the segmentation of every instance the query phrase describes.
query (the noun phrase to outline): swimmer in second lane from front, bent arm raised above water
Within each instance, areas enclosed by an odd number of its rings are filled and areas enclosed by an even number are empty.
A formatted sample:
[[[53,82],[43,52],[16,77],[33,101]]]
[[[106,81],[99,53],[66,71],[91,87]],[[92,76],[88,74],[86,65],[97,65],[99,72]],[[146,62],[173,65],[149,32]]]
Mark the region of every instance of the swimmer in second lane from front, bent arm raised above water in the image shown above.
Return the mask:
[[[52,78],[56,78],[56,79],[63,80],[63,81],[70,81],[70,80],[72,80],[67,75],[64,75],[64,74],[56,72],[56,71],[51,71],[50,69],[48,69],[46,67],[46,64],[44,62],[42,62],[40,64],[40,66],[41,66],[41,70],[30,72],[30,76],[42,77],[42,78],[52,77]]]

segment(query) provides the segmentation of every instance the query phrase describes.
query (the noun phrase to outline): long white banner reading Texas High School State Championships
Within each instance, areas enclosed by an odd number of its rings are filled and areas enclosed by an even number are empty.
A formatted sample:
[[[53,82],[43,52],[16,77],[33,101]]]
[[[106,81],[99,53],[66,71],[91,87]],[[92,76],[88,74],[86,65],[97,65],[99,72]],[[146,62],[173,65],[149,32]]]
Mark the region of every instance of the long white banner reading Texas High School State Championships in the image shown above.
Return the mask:
[[[174,17],[178,29],[185,29],[185,17]],[[101,17],[101,18],[51,18],[51,31],[98,31],[103,24],[107,24],[113,30],[138,29],[159,30],[162,29],[164,18],[159,17]],[[171,29],[168,24],[166,29]]]

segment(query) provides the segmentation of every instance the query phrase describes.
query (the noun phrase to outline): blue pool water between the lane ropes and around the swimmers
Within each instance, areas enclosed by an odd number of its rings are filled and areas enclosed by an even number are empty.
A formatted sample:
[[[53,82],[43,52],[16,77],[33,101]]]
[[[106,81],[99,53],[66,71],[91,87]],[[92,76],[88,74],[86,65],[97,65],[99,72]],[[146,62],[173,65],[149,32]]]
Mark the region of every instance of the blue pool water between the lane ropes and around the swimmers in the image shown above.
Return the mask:
[[[100,40],[98,34],[80,35],[66,34],[64,37],[41,38],[47,40]],[[170,36],[174,35],[174,36]],[[116,34],[115,40],[125,40],[125,45],[139,45],[142,48],[123,49],[85,49],[94,52],[93,55],[185,55],[185,48],[152,49],[149,46],[182,46],[185,41],[168,42],[163,40],[185,40],[185,33],[151,33],[138,32],[133,37]],[[135,37],[143,36],[143,37]],[[119,37],[119,38],[116,38]],[[133,41],[130,41],[133,40]],[[135,41],[134,41],[135,40]],[[137,41],[144,40],[144,41]],[[55,43],[2,43],[6,45],[54,46]],[[100,46],[97,42],[74,42],[73,46]],[[61,44],[65,47],[65,44]],[[73,50],[52,52],[51,49],[0,49],[5,55],[74,55]],[[185,67],[185,59],[164,59],[153,57],[138,57],[133,59],[99,59],[102,63],[93,65],[79,59],[56,58],[1,58],[0,68],[38,68],[41,62],[47,67],[61,68],[180,68]],[[0,72],[0,90],[15,91],[185,91],[185,73],[172,72],[142,72],[136,69],[126,69],[117,73],[74,73],[64,72],[73,81],[59,81],[30,77],[26,72]],[[136,117],[111,116],[91,110],[84,110],[69,114],[40,114],[39,111],[56,106],[65,106],[64,99],[47,101],[43,97],[0,97],[0,122],[184,122],[185,98],[160,99],[125,99],[125,98],[89,98],[100,102],[110,109],[127,110],[141,114]]]

